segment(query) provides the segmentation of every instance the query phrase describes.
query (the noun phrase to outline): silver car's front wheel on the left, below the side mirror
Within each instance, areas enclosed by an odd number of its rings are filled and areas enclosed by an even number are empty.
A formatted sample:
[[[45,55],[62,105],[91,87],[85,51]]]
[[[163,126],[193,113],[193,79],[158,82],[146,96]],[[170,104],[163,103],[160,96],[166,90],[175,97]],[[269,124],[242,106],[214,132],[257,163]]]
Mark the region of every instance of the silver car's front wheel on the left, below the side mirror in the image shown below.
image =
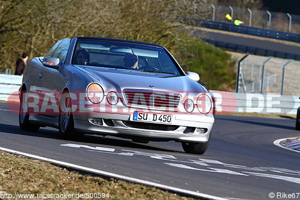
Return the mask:
[[[63,92],[59,100],[58,130],[63,139],[80,140],[83,133],[74,129],[74,120],[71,113],[71,98],[68,92]]]

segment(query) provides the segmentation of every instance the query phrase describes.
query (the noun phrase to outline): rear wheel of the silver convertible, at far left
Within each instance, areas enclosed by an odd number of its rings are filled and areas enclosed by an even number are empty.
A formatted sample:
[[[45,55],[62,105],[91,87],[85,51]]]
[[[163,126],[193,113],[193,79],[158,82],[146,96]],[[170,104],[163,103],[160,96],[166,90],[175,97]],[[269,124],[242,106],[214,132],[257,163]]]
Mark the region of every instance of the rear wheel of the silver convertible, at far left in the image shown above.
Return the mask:
[[[22,130],[29,130],[36,132],[39,129],[38,125],[29,122],[28,114],[28,92],[26,89],[21,90],[20,107],[19,107],[19,126]]]

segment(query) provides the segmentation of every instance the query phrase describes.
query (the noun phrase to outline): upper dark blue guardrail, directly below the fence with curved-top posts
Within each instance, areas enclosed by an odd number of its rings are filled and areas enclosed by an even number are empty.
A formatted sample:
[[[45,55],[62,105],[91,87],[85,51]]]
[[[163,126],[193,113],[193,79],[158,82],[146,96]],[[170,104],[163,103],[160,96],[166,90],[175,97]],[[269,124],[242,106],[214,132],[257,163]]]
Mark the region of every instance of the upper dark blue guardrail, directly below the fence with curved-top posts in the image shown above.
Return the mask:
[[[235,25],[233,23],[227,23],[222,21],[212,21],[212,20],[203,20],[203,19],[192,19],[192,20],[198,21],[197,24],[205,28],[212,28],[212,29],[225,30],[230,32],[256,35],[261,37],[300,42],[300,34],[297,33],[283,32],[283,31],[271,30],[266,28],[256,28],[256,27],[251,27],[246,25]]]

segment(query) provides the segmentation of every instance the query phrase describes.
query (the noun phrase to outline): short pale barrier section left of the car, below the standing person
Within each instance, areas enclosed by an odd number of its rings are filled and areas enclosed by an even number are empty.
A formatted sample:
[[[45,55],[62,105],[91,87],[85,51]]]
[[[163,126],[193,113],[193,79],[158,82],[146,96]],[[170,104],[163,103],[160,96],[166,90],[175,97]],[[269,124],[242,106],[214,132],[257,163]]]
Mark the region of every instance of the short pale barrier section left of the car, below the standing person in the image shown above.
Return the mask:
[[[12,92],[18,91],[22,83],[22,76],[20,75],[9,75],[0,74],[0,100],[7,101],[8,96]],[[11,99],[18,101],[17,94],[12,94]]]

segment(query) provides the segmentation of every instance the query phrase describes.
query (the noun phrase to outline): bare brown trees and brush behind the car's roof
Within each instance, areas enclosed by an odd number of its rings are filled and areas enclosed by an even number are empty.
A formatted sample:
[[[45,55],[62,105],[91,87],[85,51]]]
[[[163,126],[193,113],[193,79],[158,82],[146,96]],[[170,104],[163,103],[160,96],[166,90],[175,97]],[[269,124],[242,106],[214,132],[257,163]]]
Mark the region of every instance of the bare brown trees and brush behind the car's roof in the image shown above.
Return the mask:
[[[59,39],[78,35],[163,44],[180,39],[181,16],[204,13],[201,0],[1,0],[0,69],[23,51],[42,56]],[[194,13],[197,3],[197,13]]]

